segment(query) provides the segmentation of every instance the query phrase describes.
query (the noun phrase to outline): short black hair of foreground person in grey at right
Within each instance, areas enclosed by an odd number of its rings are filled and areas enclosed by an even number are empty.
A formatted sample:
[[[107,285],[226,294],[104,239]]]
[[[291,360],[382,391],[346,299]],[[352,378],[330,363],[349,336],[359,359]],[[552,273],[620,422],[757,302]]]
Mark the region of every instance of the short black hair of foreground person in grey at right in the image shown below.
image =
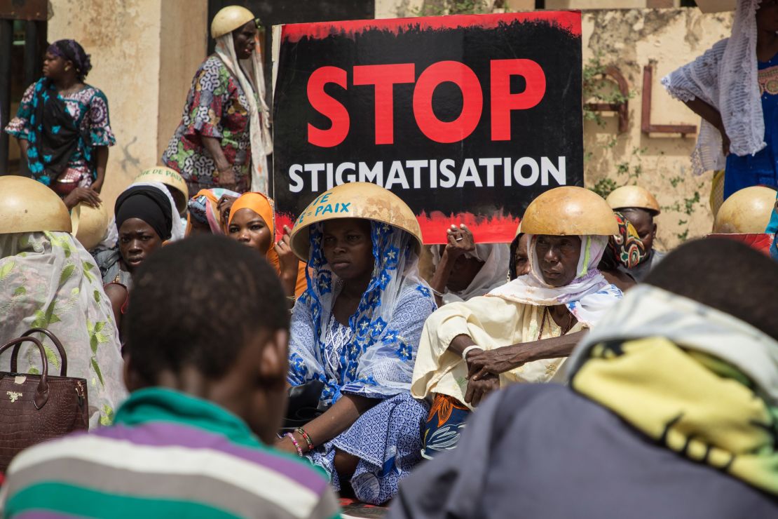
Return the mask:
[[[778,264],[728,238],[683,244],[645,282],[699,301],[778,338]]]

